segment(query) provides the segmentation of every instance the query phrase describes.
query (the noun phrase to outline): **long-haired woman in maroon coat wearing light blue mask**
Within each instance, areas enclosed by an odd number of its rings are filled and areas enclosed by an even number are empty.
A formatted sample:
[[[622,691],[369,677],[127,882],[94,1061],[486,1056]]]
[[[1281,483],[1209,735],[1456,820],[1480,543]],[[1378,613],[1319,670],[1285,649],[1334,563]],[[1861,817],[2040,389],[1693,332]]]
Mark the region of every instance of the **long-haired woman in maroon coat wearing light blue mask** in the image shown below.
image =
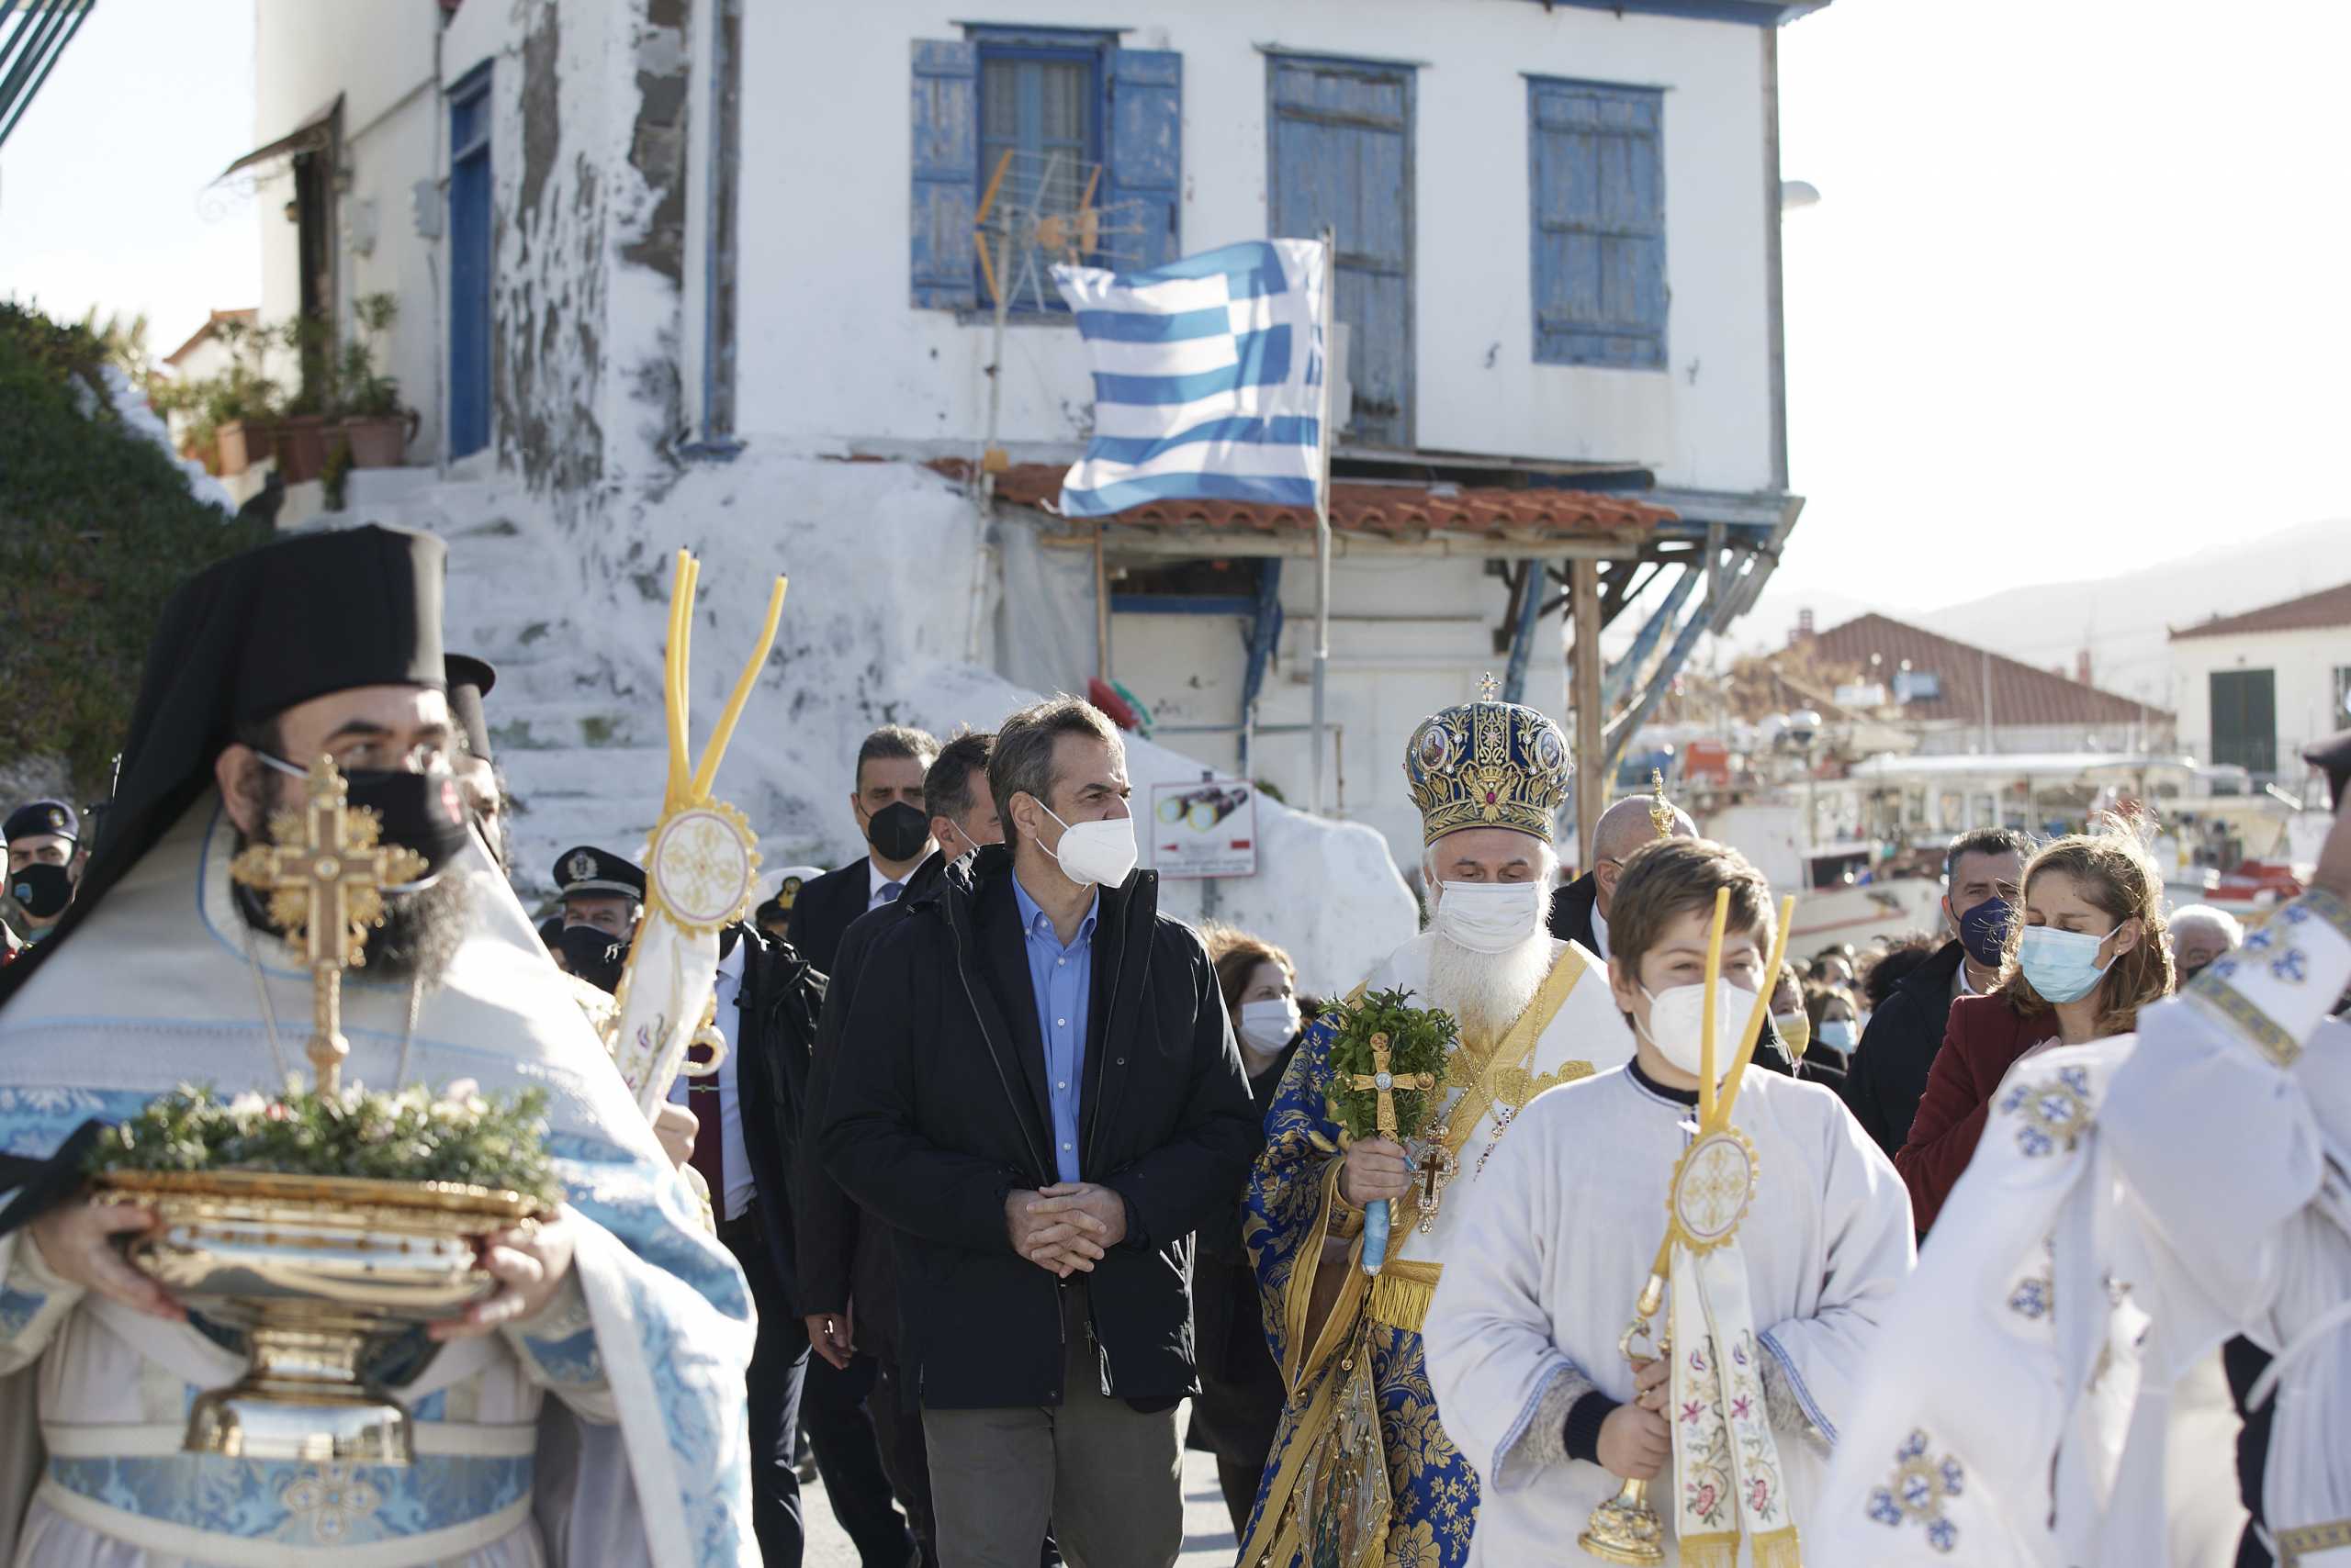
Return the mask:
[[[2139,1009],[2172,992],[2163,877],[2132,823],[2045,844],[2024,863],[2022,919],[2008,933],[2001,983],[1951,1004],[1909,1143],[1895,1168],[1918,1234],[1975,1157],[2008,1070],[2050,1046],[2139,1027]]]

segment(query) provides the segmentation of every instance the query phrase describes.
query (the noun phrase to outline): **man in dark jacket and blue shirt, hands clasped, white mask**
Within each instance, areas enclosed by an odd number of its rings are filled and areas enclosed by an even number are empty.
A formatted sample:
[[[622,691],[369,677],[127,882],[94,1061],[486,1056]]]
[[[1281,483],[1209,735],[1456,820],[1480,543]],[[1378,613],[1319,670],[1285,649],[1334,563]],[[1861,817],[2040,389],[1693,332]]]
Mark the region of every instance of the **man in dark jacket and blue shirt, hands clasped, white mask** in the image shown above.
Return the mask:
[[[987,769],[1006,846],[947,867],[858,973],[825,1157],[896,1227],[900,1356],[945,1568],[1183,1549],[1192,1232],[1260,1145],[1199,938],[1133,872],[1126,757],[1077,698]]]

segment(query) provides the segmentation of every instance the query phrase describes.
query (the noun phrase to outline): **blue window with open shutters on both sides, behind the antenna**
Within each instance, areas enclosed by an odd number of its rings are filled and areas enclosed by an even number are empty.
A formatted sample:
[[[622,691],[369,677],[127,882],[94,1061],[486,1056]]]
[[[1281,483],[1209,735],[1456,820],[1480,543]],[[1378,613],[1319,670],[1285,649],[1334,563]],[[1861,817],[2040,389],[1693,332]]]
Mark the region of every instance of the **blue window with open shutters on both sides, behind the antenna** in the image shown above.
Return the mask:
[[[969,24],[959,40],[915,40],[912,299],[931,310],[992,310],[973,221],[1006,153],[1074,205],[1100,165],[1093,207],[1110,214],[1096,266],[1140,270],[1180,254],[1183,56],[1121,49],[1117,33]],[[1067,320],[1051,282],[1013,313]]]

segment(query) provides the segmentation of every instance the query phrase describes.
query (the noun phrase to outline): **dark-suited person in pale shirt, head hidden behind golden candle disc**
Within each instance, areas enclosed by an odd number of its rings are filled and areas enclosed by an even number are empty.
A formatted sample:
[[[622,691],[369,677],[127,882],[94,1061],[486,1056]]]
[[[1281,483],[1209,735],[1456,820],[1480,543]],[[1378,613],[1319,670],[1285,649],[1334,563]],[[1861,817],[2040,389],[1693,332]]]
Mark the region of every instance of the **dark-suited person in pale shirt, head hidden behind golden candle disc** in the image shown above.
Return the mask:
[[[809,1338],[799,1321],[785,1173],[799,1140],[809,1046],[823,1001],[825,978],[790,945],[769,943],[748,924],[726,926],[719,933],[715,1016],[726,1056],[715,1074],[679,1079],[670,1091],[670,1103],[696,1117],[691,1161],[710,1187],[719,1241],[743,1265],[759,1309],[745,1394],[752,1533],[766,1568],[799,1568],[804,1549],[792,1436],[806,1387]],[[910,1547],[900,1549],[893,1568],[907,1554]]]

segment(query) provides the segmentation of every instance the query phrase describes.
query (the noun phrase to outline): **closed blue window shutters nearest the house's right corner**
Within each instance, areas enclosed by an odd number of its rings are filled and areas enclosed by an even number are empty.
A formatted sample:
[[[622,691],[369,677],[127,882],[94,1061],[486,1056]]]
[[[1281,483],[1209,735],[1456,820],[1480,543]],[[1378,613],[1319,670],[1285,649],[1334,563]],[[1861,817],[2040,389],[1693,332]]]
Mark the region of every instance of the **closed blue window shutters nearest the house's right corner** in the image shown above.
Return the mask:
[[[1526,85],[1535,364],[1665,369],[1665,94]]]

